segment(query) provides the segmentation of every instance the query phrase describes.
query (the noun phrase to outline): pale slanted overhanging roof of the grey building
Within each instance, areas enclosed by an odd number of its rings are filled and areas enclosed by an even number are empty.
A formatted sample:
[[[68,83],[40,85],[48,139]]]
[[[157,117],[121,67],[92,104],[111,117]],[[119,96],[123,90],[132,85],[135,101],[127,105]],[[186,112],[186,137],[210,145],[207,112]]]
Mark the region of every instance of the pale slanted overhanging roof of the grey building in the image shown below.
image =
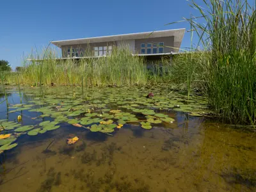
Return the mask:
[[[174,36],[174,45],[179,48],[182,38],[184,36],[185,29],[169,29],[163,31],[150,31],[143,33],[129,33],[123,35],[109,35],[109,36],[97,36],[89,38],[77,38],[71,40],[59,40],[52,41],[51,43],[60,47],[63,45],[76,45],[76,44],[89,44],[98,42],[115,42],[120,40],[136,40],[141,38],[157,38],[163,36]]]

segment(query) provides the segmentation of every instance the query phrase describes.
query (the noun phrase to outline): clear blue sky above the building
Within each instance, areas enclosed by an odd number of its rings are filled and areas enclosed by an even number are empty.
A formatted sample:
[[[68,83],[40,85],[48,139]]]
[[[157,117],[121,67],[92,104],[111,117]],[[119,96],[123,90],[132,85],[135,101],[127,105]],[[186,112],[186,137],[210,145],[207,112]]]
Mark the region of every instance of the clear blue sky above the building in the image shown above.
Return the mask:
[[[23,56],[51,40],[189,29],[186,23],[164,26],[195,14],[188,4],[186,0],[1,1],[0,60],[8,60],[13,69],[22,66]],[[182,47],[189,45],[186,33]]]

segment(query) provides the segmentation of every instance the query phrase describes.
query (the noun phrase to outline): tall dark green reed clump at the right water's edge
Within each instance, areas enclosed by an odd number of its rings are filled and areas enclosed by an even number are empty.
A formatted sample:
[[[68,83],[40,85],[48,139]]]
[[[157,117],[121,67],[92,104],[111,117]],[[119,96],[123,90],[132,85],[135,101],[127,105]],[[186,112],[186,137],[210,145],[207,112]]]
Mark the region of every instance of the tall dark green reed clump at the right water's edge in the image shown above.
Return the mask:
[[[222,118],[255,124],[256,12],[248,1],[204,3],[206,9],[191,1],[200,13],[200,23],[191,19],[195,17],[185,19],[204,51],[173,60],[173,80],[186,83],[188,90],[202,90]]]

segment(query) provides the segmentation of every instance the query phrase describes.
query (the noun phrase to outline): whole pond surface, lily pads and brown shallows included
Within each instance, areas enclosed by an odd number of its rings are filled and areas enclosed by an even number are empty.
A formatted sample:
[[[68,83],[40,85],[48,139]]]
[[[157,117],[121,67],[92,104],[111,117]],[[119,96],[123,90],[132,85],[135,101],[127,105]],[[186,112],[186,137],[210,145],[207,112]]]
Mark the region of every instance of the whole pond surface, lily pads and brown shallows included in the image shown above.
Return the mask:
[[[204,97],[161,87],[5,91],[0,191],[256,191],[255,133],[201,116]]]

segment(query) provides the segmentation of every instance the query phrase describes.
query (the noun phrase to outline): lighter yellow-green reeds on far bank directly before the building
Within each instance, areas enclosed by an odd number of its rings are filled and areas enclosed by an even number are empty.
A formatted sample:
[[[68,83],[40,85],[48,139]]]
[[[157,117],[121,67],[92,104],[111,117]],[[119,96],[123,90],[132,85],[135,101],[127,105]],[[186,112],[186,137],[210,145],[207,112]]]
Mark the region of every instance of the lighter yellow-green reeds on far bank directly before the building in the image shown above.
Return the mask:
[[[104,58],[58,61],[51,49],[47,49],[44,60],[35,61],[38,55],[30,56],[33,61],[19,72],[20,84],[38,85],[84,85],[84,86],[131,86],[146,84],[147,67],[143,59],[131,56],[126,50],[113,50],[113,54]],[[15,73],[13,74],[15,76]],[[12,76],[8,83],[17,83]]]

